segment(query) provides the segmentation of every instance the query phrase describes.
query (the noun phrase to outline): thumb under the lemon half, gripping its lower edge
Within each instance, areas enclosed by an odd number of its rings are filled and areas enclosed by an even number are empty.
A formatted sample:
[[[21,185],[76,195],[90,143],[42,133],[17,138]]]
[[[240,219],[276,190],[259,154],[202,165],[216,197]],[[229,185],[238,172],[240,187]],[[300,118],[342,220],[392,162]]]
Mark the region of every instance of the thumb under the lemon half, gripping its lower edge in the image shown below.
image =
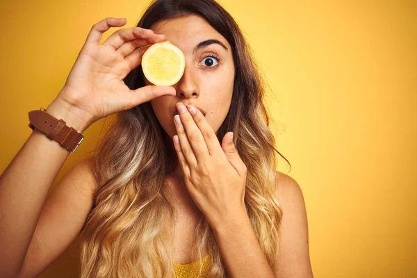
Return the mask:
[[[156,85],[147,85],[136,90],[130,90],[131,94],[128,99],[128,108],[133,108],[139,104],[143,104],[156,97],[162,97],[164,95],[177,95],[174,87],[170,86],[156,86]]]

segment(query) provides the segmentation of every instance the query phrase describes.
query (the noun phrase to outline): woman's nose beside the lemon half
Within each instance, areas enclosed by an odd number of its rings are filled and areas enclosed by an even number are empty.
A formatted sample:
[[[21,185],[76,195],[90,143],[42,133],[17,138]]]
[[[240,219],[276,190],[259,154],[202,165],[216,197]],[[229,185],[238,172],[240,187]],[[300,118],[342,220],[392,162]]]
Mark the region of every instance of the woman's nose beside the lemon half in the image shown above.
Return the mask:
[[[183,76],[174,85],[177,97],[190,99],[199,96],[198,76],[193,67],[186,65]]]

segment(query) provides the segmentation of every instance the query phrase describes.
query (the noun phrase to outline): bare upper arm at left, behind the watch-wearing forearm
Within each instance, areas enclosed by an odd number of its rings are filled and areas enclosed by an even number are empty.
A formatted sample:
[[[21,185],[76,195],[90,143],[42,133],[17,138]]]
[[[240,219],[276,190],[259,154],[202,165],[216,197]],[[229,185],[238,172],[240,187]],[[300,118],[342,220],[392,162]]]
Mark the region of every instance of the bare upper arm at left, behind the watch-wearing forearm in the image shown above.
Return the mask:
[[[96,186],[92,157],[65,174],[42,206],[19,277],[38,276],[74,241],[90,213]]]

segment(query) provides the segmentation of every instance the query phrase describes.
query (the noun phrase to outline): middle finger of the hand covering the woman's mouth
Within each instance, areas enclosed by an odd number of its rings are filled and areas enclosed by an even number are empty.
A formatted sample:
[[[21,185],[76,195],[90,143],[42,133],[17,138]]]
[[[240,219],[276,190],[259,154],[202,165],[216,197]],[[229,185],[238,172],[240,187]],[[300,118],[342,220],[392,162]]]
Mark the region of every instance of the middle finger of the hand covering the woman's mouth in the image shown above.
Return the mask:
[[[181,107],[184,109],[183,113],[181,113]],[[190,147],[193,149],[193,154],[195,155],[197,162],[206,161],[210,156],[210,153],[208,152],[202,131],[200,131],[197,124],[195,124],[193,117],[188,112],[186,106],[179,102],[177,104],[177,109],[179,111],[179,117],[181,118],[182,129],[184,129],[184,134],[188,139],[188,144],[190,144]],[[182,133],[179,133],[178,136],[181,142]]]

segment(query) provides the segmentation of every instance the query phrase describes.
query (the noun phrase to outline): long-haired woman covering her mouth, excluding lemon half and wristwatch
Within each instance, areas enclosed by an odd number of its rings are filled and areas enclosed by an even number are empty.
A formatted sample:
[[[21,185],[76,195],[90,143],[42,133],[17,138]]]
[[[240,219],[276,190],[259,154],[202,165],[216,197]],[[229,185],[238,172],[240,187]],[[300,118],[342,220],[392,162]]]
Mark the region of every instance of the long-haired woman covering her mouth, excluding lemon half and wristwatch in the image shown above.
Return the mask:
[[[302,192],[275,170],[265,84],[234,19],[213,0],[157,0],[100,44],[124,24],[92,27],[47,108],[80,133],[115,114],[94,156],[47,198],[70,152],[34,129],[1,176],[0,276],[35,277],[83,231],[83,278],[312,277]],[[140,66],[164,40],[186,57],[171,87]]]

